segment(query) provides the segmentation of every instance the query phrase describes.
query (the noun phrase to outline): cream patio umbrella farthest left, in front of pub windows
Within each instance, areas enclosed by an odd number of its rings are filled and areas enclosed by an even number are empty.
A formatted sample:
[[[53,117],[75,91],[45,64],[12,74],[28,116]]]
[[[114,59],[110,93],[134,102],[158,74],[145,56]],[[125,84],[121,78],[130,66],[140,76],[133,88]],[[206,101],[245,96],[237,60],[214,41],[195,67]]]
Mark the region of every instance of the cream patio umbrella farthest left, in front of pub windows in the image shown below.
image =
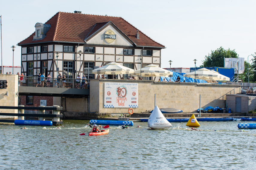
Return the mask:
[[[111,62],[106,64],[105,66],[99,67],[98,69],[94,69],[92,71],[93,74],[129,74],[133,73],[134,69],[130,69],[128,67],[122,66],[118,63]]]

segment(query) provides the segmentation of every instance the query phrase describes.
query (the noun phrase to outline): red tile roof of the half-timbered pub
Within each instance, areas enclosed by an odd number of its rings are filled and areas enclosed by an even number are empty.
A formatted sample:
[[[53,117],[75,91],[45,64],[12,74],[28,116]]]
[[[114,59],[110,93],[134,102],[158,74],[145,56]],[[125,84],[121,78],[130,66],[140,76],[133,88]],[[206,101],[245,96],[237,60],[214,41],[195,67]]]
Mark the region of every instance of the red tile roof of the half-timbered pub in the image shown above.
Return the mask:
[[[85,43],[84,39],[86,37],[89,37],[96,29],[99,29],[109,21],[118,27],[137,46],[165,48],[164,45],[152,40],[140,30],[140,39],[137,39],[135,35],[138,29],[121,17],[65,12],[56,13],[45,23],[51,24],[51,28],[46,33],[45,38],[33,41],[34,32],[28,38],[19,42],[18,45],[49,41]]]

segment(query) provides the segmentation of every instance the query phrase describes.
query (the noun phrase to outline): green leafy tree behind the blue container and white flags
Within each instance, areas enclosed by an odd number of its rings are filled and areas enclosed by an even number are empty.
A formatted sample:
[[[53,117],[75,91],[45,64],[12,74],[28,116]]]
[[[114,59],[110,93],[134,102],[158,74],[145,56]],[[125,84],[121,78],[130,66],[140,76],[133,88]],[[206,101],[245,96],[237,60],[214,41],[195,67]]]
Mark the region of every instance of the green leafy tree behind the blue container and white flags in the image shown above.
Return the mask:
[[[224,67],[224,58],[237,58],[235,50],[225,50],[219,47],[217,50],[211,50],[211,54],[205,55],[205,60],[200,67]]]

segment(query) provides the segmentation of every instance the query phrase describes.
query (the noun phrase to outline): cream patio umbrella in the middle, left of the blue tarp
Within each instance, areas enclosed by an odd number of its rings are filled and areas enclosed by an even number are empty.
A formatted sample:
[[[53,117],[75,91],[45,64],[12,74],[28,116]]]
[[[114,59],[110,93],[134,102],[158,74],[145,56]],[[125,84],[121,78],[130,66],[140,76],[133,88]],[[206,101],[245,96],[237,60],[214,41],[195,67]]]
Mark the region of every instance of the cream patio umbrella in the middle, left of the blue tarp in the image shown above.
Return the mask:
[[[133,75],[136,75],[136,76],[141,75],[141,77],[156,77],[156,76],[168,77],[169,75],[172,75],[172,74],[173,73],[171,71],[162,69],[154,64],[149,64],[146,67],[137,69],[133,73]]]

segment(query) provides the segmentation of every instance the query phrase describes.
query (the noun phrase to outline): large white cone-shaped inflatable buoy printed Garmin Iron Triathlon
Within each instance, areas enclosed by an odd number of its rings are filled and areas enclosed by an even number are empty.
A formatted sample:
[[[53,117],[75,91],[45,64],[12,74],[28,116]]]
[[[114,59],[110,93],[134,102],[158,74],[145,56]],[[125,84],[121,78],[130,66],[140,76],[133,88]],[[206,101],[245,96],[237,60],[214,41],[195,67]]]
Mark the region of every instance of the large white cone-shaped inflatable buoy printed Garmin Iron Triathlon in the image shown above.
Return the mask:
[[[171,126],[171,123],[166,120],[160,109],[155,106],[153,112],[149,116],[148,127],[150,129],[166,129]]]

